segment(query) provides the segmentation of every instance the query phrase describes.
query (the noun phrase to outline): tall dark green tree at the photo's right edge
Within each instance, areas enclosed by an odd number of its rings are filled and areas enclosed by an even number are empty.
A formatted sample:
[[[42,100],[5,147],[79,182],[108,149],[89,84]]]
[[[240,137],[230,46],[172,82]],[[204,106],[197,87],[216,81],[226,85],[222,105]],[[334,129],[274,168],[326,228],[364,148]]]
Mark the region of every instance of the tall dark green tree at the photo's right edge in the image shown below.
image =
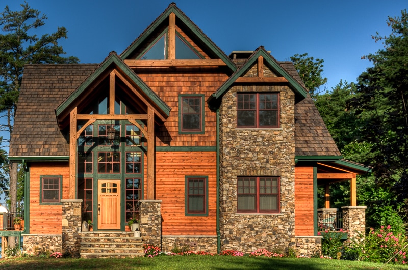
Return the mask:
[[[384,49],[363,56],[373,63],[359,76],[350,101],[364,125],[361,139],[371,145],[368,164],[376,183],[396,194],[394,205],[408,213],[408,14],[388,17],[391,34],[373,36]]]

